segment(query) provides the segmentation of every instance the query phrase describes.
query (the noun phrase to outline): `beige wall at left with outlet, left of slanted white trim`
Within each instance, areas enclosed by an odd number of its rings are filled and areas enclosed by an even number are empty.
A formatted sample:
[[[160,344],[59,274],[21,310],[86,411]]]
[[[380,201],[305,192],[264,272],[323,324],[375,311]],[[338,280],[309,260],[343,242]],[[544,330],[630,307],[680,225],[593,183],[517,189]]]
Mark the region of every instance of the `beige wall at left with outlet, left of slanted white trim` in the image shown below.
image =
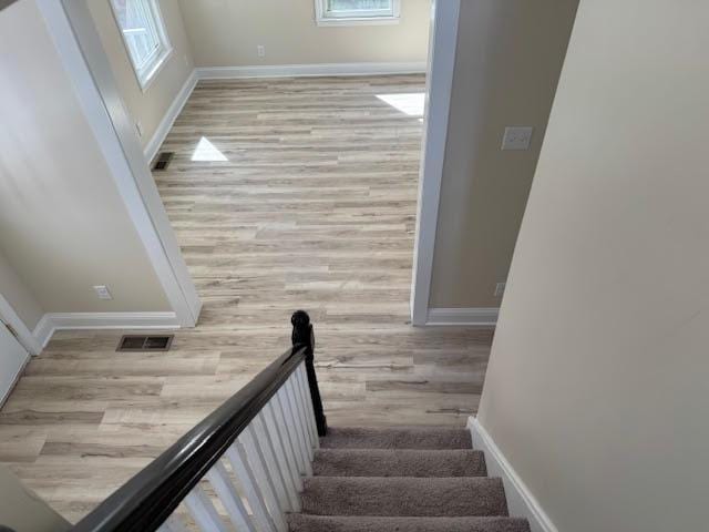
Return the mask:
[[[0,12],[0,50],[7,262],[44,311],[169,310],[34,0]]]

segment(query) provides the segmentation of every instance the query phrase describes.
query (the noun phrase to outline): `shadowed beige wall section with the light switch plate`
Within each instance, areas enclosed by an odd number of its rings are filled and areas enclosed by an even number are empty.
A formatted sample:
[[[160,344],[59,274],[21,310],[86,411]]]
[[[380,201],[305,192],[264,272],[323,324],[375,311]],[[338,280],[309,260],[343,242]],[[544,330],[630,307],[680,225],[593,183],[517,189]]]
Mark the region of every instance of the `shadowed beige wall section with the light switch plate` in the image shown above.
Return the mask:
[[[577,0],[463,0],[430,307],[497,307]],[[535,127],[501,151],[506,125]]]

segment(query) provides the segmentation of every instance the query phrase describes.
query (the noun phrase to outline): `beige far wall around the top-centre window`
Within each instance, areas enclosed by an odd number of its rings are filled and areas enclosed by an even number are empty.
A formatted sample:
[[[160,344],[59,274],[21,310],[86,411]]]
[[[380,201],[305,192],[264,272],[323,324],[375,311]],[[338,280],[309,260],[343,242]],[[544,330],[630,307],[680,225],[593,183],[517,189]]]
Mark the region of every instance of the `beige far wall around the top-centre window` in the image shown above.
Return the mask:
[[[403,0],[398,24],[337,28],[316,25],[314,0],[179,3],[197,66],[424,62],[428,55],[431,0]]]

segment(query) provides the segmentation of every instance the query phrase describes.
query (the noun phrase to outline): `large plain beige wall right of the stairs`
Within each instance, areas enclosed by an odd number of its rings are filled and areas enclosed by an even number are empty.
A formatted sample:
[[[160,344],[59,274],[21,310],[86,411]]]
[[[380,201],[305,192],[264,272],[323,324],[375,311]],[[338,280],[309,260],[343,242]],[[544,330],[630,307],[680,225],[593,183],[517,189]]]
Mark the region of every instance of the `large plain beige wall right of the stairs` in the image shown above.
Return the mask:
[[[561,531],[707,530],[707,20],[578,10],[480,411]]]

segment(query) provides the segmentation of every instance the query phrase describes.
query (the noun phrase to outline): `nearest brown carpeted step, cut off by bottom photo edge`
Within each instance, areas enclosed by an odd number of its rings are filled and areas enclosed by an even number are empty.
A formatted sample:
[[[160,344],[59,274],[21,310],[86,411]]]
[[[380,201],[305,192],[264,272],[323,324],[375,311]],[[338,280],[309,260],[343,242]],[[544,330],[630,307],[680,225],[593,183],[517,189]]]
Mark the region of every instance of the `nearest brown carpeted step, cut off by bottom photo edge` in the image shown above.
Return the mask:
[[[518,518],[382,518],[372,515],[288,515],[290,532],[530,532]]]

